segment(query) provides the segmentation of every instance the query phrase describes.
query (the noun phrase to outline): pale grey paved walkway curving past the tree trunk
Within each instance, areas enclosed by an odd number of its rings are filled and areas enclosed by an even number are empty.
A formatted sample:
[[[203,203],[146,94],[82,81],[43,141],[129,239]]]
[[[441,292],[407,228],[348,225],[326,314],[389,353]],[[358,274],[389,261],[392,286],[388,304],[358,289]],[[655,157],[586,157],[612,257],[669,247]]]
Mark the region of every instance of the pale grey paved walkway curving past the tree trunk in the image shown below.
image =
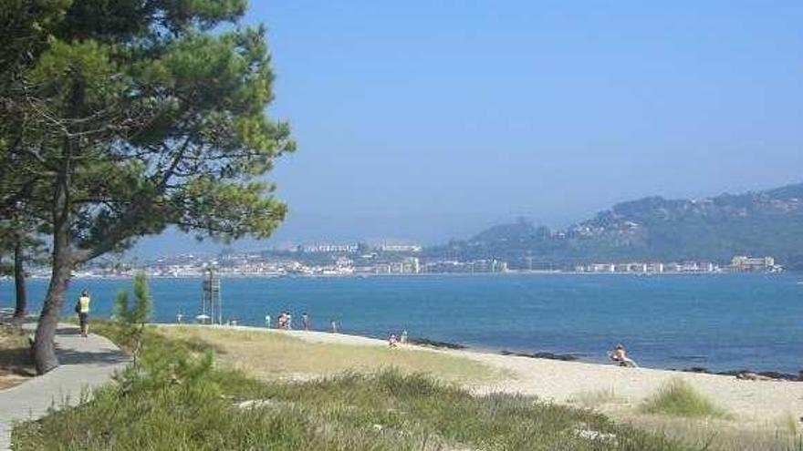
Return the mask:
[[[26,324],[31,331],[35,327]],[[81,338],[78,326],[70,324],[58,325],[56,348],[55,370],[0,392],[0,450],[11,446],[15,421],[39,418],[54,405],[78,404],[82,392],[108,382],[129,362],[114,343],[95,334]]]

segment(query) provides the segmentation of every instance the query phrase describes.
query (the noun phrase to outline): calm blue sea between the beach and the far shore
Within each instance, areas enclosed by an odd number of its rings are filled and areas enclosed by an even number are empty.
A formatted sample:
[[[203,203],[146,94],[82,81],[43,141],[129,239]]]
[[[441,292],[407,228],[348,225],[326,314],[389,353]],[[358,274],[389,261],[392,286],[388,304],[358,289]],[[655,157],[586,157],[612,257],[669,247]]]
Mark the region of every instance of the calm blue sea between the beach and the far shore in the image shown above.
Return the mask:
[[[199,310],[200,279],[152,279],[154,320]],[[89,289],[108,317],[130,280],[75,280],[64,313]],[[29,282],[38,311],[47,281]],[[224,321],[263,325],[266,311],[308,312],[315,329],[462,343],[485,351],[576,354],[604,361],[624,343],[642,366],[712,371],[803,368],[803,275],[422,275],[368,278],[233,278],[223,281]],[[0,285],[0,307],[13,287]]]

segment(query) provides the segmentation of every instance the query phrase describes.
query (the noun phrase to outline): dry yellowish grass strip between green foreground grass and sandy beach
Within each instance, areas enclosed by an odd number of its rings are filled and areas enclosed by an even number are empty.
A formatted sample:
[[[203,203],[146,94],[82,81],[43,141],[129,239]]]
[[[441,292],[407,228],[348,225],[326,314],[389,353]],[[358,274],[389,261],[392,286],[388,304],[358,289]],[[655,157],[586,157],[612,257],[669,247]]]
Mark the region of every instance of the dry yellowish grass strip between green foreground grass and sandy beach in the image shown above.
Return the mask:
[[[159,333],[203,343],[216,351],[221,364],[264,380],[392,368],[400,374],[437,374],[446,381],[472,383],[492,380],[500,373],[486,364],[412,347],[311,343],[286,333],[198,326],[163,327]]]

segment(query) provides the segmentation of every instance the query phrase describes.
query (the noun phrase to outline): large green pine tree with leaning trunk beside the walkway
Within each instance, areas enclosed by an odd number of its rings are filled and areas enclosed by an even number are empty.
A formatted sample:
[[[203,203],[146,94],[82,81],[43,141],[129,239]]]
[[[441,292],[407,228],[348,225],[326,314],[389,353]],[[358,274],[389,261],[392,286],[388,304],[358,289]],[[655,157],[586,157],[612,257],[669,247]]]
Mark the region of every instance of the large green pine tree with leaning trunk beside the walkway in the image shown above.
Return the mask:
[[[80,263],[169,225],[221,241],[276,229],[287,208],[262,176],[295,145],[266,117],[266,30],[239,24],[245,0],[11,6],[0,170],[15,176],[0,205],[23,197],[53,243],[37,346]],[[49,355],[40,371],[54,366],[52,349],[36,354]]]

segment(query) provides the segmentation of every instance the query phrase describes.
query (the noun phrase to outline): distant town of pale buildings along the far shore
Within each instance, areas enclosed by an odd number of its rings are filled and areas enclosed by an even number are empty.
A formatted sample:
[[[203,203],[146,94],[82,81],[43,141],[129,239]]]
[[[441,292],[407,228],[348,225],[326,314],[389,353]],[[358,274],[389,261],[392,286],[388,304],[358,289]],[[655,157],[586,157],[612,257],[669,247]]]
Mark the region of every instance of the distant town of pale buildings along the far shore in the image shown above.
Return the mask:
[[[527,263],[525,263],[527,265]],[[151,277],[200,277],[214,269],[222,277],[375,276],[445,273],[588,273],[588,274],[697,274],[723,272],[782,272],[772,257],[735,256],[729,263],[714,261],[591,262],[572,267],[545,263],[510,268],[507,261],[456,261],[428,257],[419,244],[302,244],[285,250],[224,251],[219,254],[183,254],[154,261],[98,261],[76,277],[128,277],[145,272]],[[32,268],[32,277],[49,277],[46,267]]]

